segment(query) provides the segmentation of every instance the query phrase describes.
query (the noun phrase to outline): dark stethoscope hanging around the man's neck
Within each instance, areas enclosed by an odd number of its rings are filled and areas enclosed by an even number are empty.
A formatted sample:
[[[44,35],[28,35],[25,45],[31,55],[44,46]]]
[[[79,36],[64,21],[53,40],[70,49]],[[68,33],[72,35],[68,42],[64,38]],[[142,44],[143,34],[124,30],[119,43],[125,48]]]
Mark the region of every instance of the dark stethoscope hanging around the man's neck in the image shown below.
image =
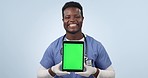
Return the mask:
[[[82,33],[83,34],[83,33]],[[66,37],[66,34],[63,36],[62,38],[62,41],[65,40],[65,37]],[[92,66],[92,61],[88,59],[88,56],[87,56],[87,53],[88,53],[88,46],[87,46],[87,40],[86,40],[86,37],[85,35],[83,34],[83,38],[84,38],[84,45],[85,45],[85,50],[84,50],[84,60],[85,60],[85,63],[89,66]],[[63,47],[61,48],[60,50],[60,53],[61,55],[63,55]]]

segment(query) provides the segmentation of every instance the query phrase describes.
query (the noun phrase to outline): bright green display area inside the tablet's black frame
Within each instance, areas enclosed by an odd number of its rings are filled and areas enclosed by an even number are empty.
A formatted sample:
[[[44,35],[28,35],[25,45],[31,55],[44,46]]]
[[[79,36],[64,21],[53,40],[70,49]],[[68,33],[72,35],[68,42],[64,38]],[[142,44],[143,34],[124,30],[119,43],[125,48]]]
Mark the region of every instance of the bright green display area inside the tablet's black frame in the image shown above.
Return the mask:
[[[64,70],[82,70],[83,69],[83,44],[64,43]]]

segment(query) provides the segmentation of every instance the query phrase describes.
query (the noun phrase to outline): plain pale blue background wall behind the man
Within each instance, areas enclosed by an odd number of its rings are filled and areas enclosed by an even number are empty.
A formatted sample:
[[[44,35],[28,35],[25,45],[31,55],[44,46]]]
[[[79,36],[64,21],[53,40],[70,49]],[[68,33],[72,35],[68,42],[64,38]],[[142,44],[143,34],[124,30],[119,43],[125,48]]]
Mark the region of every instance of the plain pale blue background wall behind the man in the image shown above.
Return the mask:
[[[0,0],[0,78],[36,78],[49,44],[65,34],[61,8],[69,0]],[[77,0],[83,32],[102,42],[116,78],[148,77],[148,1]]]

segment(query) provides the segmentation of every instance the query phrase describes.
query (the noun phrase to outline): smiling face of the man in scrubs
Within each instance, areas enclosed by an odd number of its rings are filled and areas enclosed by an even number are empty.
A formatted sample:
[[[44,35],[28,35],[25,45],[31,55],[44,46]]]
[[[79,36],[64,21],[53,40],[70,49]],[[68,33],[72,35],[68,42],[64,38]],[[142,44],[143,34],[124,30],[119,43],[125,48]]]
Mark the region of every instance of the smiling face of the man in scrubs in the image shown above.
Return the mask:
[[[64,10],[63,24],[67,33],[81,32],[82,23],[83,17],[79,8],[69,7]]]

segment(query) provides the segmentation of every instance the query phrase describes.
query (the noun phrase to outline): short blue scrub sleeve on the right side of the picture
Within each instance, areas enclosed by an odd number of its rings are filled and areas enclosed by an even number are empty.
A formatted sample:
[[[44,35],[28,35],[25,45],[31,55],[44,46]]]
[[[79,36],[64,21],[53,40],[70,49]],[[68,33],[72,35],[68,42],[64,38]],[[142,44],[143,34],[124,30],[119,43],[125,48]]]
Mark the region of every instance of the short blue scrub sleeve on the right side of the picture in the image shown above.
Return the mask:
[[[101,43],[98,45],[97,51],[98,51],[98,56],[95,65],[97,68],[105,70],[112,64],[111,60]]]

